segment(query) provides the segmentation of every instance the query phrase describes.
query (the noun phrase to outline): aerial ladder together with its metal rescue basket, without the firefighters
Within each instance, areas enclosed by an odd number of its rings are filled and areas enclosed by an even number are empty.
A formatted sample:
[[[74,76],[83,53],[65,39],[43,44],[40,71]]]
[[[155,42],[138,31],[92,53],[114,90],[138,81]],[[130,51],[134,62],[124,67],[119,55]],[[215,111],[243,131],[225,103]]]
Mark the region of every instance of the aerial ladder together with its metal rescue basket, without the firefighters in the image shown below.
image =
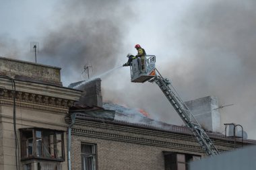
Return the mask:
[[[150,83],[156,83],[170,104],[179,114],[185,125],[193,132],[195,138],[199,142],[203,151],[205,151],[206,155],[218,155],[219,151],[214,146],[214,143],[210,139],[210,137],[206,134],[200,124],[195,120],[195,117],[185,104],[185,102],[179,97],[179,94],[174,89],[170,81],[158,72],[155,67],[156,56],[147,55],[146,60],[144,60],[144,70],[141,69],[141,59],[135,58],[131,62],[131,82],[133,83],[144,83],[146,81]]]

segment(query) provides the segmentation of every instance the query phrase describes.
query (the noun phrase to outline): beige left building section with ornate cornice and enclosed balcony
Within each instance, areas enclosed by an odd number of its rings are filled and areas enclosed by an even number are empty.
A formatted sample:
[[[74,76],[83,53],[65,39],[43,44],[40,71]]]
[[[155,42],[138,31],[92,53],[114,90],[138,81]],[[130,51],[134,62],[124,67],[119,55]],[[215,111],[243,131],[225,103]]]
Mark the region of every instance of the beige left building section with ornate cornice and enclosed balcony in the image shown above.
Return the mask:
[[[81,91],[60,68],[0,58],[0,169],[67,169],[65,116]]]

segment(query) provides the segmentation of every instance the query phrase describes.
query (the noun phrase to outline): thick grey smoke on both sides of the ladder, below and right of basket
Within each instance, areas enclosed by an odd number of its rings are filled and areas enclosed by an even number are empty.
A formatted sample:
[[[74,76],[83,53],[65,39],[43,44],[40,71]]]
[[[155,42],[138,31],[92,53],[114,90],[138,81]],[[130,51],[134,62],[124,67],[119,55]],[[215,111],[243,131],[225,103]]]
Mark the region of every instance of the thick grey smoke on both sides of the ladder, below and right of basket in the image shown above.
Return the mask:
[[[214,95],[219,105],[233,103],[220,110],[222,128],[224,123],[241,124],[249,138],[256,138],[255,8],[255,1],[194,1],[176,24],[166,27],[159,46],[166,53],[175,50],[177,56],[170,56],[162,65],[160,59],[156,63],[185,101]],[[112,94],[120,96],[115,91]],[[156,85],[131,85],[121,94],[160,120],[181,123]]]

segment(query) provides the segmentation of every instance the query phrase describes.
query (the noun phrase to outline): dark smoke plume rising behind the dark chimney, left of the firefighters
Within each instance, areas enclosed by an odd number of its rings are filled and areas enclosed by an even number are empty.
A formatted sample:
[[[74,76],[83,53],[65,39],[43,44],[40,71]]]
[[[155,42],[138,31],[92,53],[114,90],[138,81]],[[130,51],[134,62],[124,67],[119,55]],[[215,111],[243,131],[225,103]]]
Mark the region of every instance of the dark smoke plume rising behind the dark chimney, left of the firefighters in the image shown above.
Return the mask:
[[[43,62],[55,62],[70,81],[79,80],[86,64],[92,65],[94,74],[113,69],[132,17],[122,1],[65,1],[53,16],[55,29],[44,38]]]

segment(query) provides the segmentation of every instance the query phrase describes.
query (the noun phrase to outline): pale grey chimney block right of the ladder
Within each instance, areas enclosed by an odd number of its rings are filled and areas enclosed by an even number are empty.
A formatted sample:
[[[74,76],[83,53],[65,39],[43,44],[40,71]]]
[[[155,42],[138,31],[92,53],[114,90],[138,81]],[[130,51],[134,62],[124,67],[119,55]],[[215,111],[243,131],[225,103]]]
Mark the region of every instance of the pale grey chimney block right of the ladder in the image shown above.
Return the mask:
[[[218,98],[207,96],[185,102],[195,119],[203,128],[212,132],[220,130]]]

